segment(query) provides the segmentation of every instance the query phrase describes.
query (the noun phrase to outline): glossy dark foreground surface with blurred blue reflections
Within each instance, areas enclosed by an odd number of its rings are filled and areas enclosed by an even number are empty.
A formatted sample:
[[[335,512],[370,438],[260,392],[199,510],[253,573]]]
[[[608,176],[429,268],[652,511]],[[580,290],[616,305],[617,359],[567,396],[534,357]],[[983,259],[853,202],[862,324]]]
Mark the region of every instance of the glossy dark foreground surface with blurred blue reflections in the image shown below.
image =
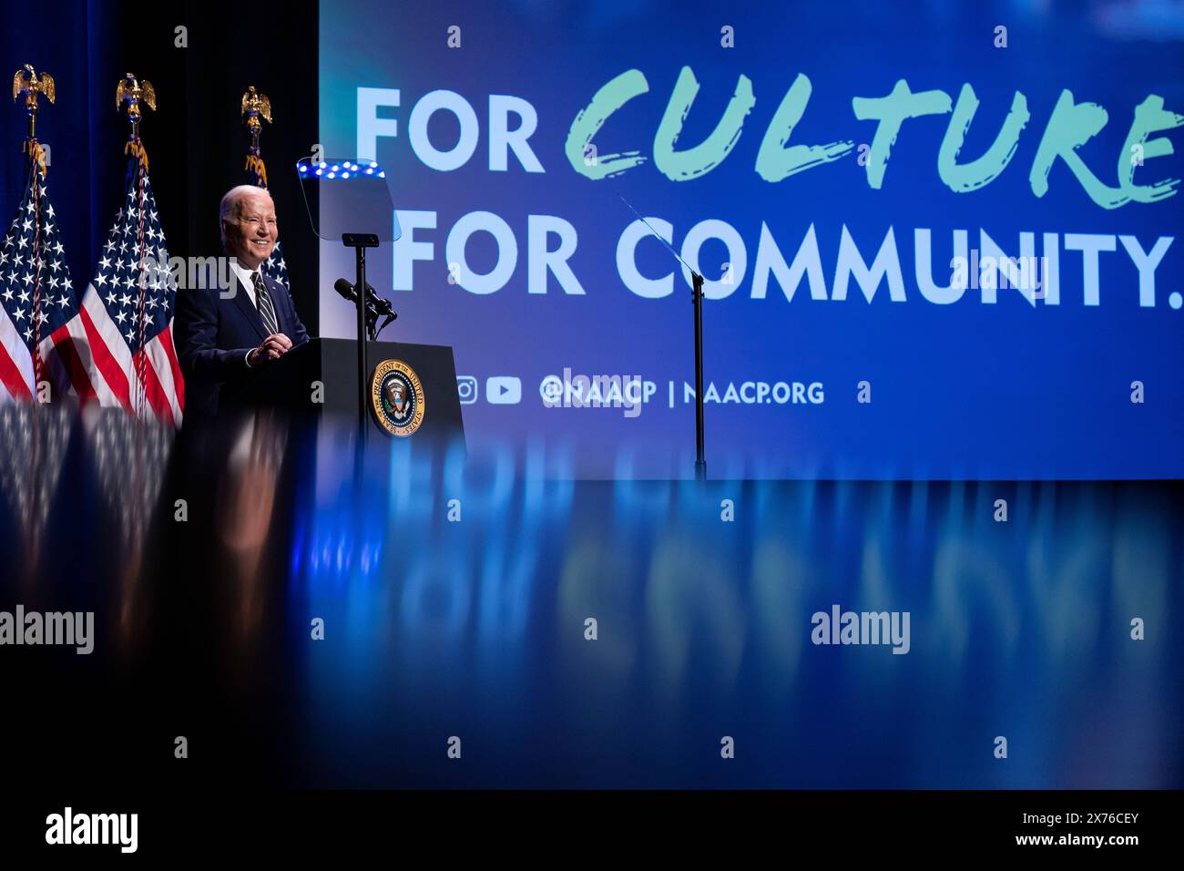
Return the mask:
[[[90,654],[0,647],[13,777],[1184,786],[1179,482],[572,481],[542,447],[359,465],[266,415],[0,424],[0,610],[94,611]]]

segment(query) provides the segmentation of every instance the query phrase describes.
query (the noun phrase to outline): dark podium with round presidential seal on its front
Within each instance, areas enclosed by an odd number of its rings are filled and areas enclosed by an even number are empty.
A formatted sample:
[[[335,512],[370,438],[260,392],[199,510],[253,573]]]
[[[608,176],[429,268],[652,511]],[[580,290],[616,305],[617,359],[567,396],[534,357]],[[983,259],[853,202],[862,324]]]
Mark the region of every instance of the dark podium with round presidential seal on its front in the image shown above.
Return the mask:
[[[366,353],[371,372],[384,360],[394,359],[403,360],[419,377],[424,390],[424,417],[412,437],[431,441],[464,437],[452,348],[371,341],[366,344]],[[317,391],[316,382],[323,385],[323,390]],[[294,417],[333,415],[356,421],[358,392],[358,350],[354,341],[311,339],[278,360],[250,372],[233,386],[223,385],[218,405],[219,411],[274,406]],[[369,425],[379,430],[368,410],[367,415]]]

